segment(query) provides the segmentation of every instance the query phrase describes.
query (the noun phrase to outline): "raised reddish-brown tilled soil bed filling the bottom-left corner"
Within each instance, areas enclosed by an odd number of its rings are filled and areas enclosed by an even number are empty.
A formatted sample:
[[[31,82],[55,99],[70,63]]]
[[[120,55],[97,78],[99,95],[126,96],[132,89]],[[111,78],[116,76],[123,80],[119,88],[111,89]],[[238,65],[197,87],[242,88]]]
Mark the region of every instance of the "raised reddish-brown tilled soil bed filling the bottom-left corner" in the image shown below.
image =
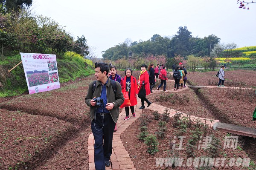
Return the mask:
[[[35,169],[74,135],[69,122],[0,109],[0,169]]]

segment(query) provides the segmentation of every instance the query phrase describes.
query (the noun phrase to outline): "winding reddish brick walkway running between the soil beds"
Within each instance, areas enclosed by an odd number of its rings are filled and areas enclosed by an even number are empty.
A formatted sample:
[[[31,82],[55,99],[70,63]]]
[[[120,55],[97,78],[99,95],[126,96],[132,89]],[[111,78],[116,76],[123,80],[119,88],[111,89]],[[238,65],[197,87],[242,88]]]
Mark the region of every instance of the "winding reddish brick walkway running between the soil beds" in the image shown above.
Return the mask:
[[[180,89],[180,91],[186,90],[186,89],[188,89],[188,88]],[[175,90],[173,90],[173,89],[167,90],[167,91],[175,92]],[[153,92],[154,93],[155,92],[161,92],[161,90],[159,90],[159,91],[153,90]],[[135,120],[137,120],[137,118],[140,117],[140,115],[142,113],[142,109],[139,109],[140,106],[141,106],[141,101],[138,98],[138,104],[137,104],[137,106],[134,106],[135,114],[136,114],[135,118],[130,113],[130,119],[125,121],[124,120],[124,118],[125,118],[125,109],[122,109],[122,112],[119,114],[119,119],[117,121],[117,131],[114,132],[114,134],[113,134],[113,150],[112,150],[112,155],[111,155],[111,158],[110,158],[111,166],[106,167],[107,170],[136,170],[136,168],[134,167],[133,161],[131,161],[131,158],[130,158],[128,152],[125,150],[125,147],[122,144],[121,134]],[[145,104],[145,107],[146,106],[147,106],[147,104]],[[171,117],[173,117],[175,115],[175,113],[178,112],[174,109],[169,109],[167,107],[163,107],[161,105],[154,104],[154,103],[152,103],[150,105],[150,107],[148,107],[148,109],[151,109],[153,111],[157,111],[160,114],[163,114],[165,112],[165,109],[168,109],[169,112],[170,112]],[[182,116],[187,116],[187,115],[183,113]],[[194,117],[195,116],[191,116],[192,119],[194,119]],[[195,120],[196,119],[197,119],[197,117],[195,117]],[[202,120],[202,122],[205,122],[205,118],[200,118],[200,119]],[[213,120],[213,122],[210,122],[209,119],[207,119],[206,124],[209,124],[209,126],[210,125],[212,126],[216,122],[218,122],[218,120]],[[89,138],[88,138],[89,170],[95,170],[93,142],[94,142],[94,138],[93,138],[93,134],[91,133],[89,135]]]

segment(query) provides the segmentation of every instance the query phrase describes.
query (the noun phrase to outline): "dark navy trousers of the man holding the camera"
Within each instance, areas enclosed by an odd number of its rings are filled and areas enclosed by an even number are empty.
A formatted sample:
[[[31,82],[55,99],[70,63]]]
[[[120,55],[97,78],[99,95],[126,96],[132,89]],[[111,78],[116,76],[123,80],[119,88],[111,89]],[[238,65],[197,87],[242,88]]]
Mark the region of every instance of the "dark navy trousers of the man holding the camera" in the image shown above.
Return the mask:
[[[91,128],[94,136],[94,164],[96,170],[105,170],[105,161],[110,160],[112,154],[112,139],[115,128],[110,113],[105,116],[96,114],[91,122]],[[104,144],[103,144],[103,139]]]

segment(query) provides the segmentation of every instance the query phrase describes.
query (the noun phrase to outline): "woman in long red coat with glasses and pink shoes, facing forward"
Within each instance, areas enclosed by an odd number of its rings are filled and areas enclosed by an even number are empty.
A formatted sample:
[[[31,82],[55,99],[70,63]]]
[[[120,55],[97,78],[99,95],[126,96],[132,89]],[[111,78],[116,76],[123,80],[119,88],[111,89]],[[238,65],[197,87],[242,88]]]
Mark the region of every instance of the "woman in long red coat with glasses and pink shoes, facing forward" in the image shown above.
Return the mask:
[[[125,69],[125,77],[121,79],[121,86],[125,88],[126,92],[129,92],[129,99],[131,101],[131,113],[133,117],[135,117],[134,106],[137,104],[138,97],[138,88],[137,81],[134,76],[132,76],[132,70],[130,68]],[[124,120],[128,120],[129,117],[129,107],[125,107],[125,118]]]

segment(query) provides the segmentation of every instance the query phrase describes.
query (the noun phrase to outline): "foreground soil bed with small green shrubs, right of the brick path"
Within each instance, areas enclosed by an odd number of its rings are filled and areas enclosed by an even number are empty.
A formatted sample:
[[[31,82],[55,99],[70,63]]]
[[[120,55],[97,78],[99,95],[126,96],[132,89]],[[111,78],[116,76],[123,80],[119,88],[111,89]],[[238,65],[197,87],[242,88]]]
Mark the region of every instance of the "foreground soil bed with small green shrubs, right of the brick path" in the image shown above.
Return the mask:
[[[166,124],[165,136],[163,139],[156,135],[160,130],[160,121],[164,120],[162,116],[159,120],[154,120],[154,116],[152,115],[152,111],[149,109],[144,110],[145,116],[141,115],[140,119],[131,124],[132,128],[128,128],[121,135],[122,142],[125,146],[125,149],[128,151],[131,160],[134,162],[134,166],[137,170],[194,170],[194,169],[217,169],[217,170],[241,170],[244,167],[238,166],[238,164],[230,164],[230,160],[250,162],[250,159],[247,159],[247,154],[241,150],[240,147],[233,149],[224,149],[224,139],[226,137],[226,133],[215,131],[209,129],[205,126],[198,126],[198,124],[193,124],[191,127],[185,126],[177,126],[174,127],[175,119],[171,118],[171,120]],[[154,154],[148,153],[148,146],[145,144],[143,140],[139,140],[139,134],[141,133],[142,121],[148,122],[146,125],[148,135],[156,135],[157,136],[157,152]],[[143,123],[145,124],[145,123]],[[182,123],[183,124],[183,123]],[[183,124],[184,125],[184,124]],[[144,125],[145,126],[145,125]],[[183,128],[182,128],[183,127]],[[180,145],[180,138],[175,138],[178,136],[186,136],[183,138],[182,145]],[[202,136],[202,138],[200,138]],[[211,137],[211,145],[210,148],[203,147],[202,142],[204,141],[204,137]],[[190,144],[190,145],[189,145]],[[194,145],[192,145],[194,144]],[[181,146],[181,147],[180,147]],[[240,145],[238,145],[240,146]],[[183,148],[178,150],[179,148]],[[213,164],[208,167],[209,161],[206,167],[204,163],[200,166],[200,161],[195,160],[206,160],[205,158],[220,158],[223,160],[223,163]],[[159,158],[164,158],[164,161],[159,160]],[[165,160],[165,158],[183,158],[183,163],[178,165],[171,163],[171,161]],[[188,159],[189,158],[189,159]],[[244,159],[245,158],[245,159]],[[189,160],[193,160],[191,164],[189,164]],[[198,162],[198,163],[196,163]],[[249,163],[247,163],[249,166]],[[246,167],[245,167],[246,168]],[[252,168],[252,166],[250,166]]]

